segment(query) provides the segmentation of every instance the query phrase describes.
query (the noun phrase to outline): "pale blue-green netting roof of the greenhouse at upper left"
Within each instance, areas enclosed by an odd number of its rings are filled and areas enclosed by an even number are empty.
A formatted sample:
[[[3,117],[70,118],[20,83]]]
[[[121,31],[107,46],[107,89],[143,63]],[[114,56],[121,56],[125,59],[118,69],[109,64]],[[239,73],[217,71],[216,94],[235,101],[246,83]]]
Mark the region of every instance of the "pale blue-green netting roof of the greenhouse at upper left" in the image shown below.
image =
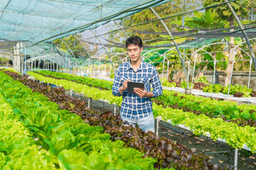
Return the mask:
[[[1,0],[0,40],[51,42],[169,0]]]

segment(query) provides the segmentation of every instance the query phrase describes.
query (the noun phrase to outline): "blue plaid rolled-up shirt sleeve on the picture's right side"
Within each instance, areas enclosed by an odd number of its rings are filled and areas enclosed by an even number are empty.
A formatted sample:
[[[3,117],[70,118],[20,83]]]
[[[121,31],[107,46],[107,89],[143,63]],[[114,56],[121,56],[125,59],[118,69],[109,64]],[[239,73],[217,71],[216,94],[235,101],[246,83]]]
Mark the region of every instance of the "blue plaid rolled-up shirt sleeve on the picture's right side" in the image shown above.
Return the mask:
[[[159,79],[159,75],[157,74],[156,68],[154,68],[152,78],[151,78],[151,85],[153,87],[153,96],[152,98],[156,98],[163,94],[163,87],[161,86],[161,81]]]

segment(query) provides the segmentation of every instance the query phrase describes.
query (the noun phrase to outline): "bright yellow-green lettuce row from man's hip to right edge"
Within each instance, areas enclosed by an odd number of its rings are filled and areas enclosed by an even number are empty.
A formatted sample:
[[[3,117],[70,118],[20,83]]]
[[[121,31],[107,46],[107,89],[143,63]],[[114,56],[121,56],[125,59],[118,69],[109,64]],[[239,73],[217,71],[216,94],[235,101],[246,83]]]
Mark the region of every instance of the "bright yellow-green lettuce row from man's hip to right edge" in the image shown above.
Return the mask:
[[[183,112],[179,109],[162,108],[153,103],[154,117],[161,117],[162,120],[171,120],[174,125],[185,125],[195,135],[208,135],[213,140],[225,139],[225,142],[233,148],[242,148],[243,145],[250,147],[252,152],[256,151],[256,128],[245,126],[240,127],[235,123],[228,123],[221,118],[209,118],[206,115],[194,115],[190,112]]]

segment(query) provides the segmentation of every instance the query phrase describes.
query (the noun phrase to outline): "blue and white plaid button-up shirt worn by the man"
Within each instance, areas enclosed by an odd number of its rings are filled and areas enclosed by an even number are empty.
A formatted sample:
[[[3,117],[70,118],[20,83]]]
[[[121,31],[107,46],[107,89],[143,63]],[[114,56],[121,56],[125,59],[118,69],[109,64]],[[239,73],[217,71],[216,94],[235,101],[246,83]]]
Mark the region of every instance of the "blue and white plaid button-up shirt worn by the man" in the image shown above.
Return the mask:
[[[157,74],[156,67],[142,60],[139,69],[134,72],[130,62],[124,62],[119,65],[114,77],[112,86],[112,94],[114,96],[122,96],[121,115],[126,118],[137,120],[145,118],[152,113],[152,102],[150,98],[140,98],[137,95],[127,94],[127,89],[120,94],[119,87],[122,86],[125,79],[144,83],[144,89],[150,92],[150,84],[153,87],[153,98],[163,94],[163,88]]]

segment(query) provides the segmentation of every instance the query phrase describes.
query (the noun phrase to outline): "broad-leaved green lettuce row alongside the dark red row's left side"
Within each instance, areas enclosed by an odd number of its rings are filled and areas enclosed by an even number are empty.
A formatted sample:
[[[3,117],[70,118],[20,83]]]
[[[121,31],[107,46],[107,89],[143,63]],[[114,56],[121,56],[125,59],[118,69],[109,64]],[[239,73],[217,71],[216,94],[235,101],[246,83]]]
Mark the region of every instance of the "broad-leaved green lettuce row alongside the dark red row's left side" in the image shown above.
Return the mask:
[[[48,159],[61,169],[154,169],[156,159],[142,158],[144,154],[124,148],[122,141],[112,142],[101,127],[83,123],[80,116],[59,110],[46,96],[0,75],[0,92],[16,107],[15,114],[33,132],[37,144],[48,149]]]

